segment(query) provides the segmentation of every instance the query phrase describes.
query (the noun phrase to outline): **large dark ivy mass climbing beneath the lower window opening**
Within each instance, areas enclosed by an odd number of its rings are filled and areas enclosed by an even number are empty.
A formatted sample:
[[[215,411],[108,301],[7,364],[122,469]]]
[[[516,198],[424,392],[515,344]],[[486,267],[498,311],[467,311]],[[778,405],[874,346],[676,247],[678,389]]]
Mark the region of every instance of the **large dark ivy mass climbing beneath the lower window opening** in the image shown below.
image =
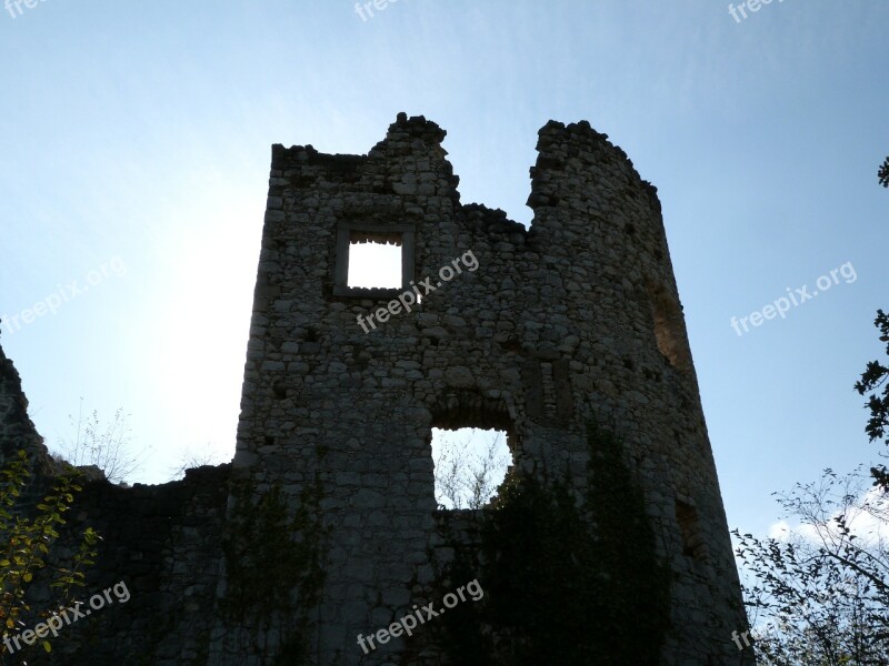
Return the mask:
[[[460,666],[659,663],[669,574],[621,443],[596,425],[588,433],[582,502],[567,481],[515,474],[495,506],[476,512],[468,538],[456,538],[446,517],[442,533],[456,555],[437,567],[429,599],[476,578],[485,597],[426,625],[430,633],[416,635],[407,655],[431,636],[447,663]]]

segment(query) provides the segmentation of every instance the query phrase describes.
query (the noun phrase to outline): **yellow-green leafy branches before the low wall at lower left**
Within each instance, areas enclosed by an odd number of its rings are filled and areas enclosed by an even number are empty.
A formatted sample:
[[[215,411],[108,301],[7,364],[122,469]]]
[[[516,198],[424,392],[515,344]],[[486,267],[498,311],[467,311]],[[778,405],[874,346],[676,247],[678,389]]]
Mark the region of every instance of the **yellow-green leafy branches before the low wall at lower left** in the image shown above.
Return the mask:
[[[53,566],[47,563],[50,547],[59,538],[58,527],[81,490],[79,473],[70,465],[53,481],[43,501],[31,515],[26,515],[19,504],[27,504],[23,490],[31,481],[28,456],[20,451],[17,457],[0,468],[0,664],[10,663],[10,639],[26,628],[23,619],[33,619],[27,592],[34,583],[38,571],[51,571],[49,586],[56,591],[56,608],[61,610],[73,603],[71,592],[82,587],[84,568],[94,564],[98,533],[91,527],[83,532],[70,566]],[[38,617],[49,618],[52,610],[44,609]],[[39,638],[43,649],[52,649],[49,639]],[[21,653],[28,648],[23,647]],[[14,648],[13,648],[14,649]],[[21,655],[14,649],[17,655]]]

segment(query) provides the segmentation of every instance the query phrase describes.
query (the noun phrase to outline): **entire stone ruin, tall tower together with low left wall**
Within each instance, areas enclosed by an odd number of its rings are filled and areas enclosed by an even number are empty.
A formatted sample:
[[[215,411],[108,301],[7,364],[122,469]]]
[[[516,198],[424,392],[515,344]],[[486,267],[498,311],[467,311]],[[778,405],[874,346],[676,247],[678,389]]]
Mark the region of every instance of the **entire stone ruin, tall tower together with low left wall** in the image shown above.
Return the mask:
[[[550,122],[526,229],[460,202],[443,139],[399,114],[367,155],[273,147],[234,461],[163,486],[90,482],[70,524],[104,537],[87,591],[126,581],[131,599],[32,663],[446,663],[357,643],[439,601],[442,525],[459,538],[472,522],[437,511],[431,428],[505,430],[516,471],[583,497],[602,490],[593,422],[623,442],[669,569],[659,663],[738,663],[738,576],[655,188],[588,123]],[[400,244],[400,289],[348,285],[368,240]],[[359,316],[427,279],[421,303],[366,332]],[[47,483],[0,351],[0,452],[21,447]]]

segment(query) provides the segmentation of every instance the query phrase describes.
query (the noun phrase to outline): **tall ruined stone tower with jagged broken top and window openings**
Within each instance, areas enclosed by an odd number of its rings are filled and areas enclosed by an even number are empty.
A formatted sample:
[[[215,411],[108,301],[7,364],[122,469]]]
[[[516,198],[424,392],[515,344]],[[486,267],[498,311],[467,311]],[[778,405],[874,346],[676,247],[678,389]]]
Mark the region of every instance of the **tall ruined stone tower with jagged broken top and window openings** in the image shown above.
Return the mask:
[[[433,601],[418,596],[448,513],[432,427],[503,430],[513,468],[583,493],[592,421],[623,443],[669,572],[660,663],[739,663],[739,582],[656,189],[586,121],[550,121],[525,228],[460,202],[444,134],[401,113],[367,155],[272,149],[232,476],[248,505],[274,491],[320,516],[298,539],[323,571],[303,617],[312,663],[401,663],[401,639],[363,654],[356,637]],[[348,285],[368,241],[400,248],[400,287]],[[468,251],[477,270],[442,282]],[[427,278],[441,285],[410,312],[359,324]],[[220,598],[237,575],[230,559]],[[251,640],[286,652],[288,637],[219,619],[210,663],[264,663]]]

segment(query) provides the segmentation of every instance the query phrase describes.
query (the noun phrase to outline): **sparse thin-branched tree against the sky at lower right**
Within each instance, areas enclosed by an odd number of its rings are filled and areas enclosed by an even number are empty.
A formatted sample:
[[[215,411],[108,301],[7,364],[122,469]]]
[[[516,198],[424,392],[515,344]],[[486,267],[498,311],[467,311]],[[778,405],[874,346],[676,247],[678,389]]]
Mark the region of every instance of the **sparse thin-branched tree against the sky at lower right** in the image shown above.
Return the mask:
[[[759,664],[859,666],[889,663],[889,497],[861,468],[826,470],[778,502],[799,521],[786,536],[741,535],[737,554],[753,575],[745,586]],[[740,642],[739,642],[740,643]]]

